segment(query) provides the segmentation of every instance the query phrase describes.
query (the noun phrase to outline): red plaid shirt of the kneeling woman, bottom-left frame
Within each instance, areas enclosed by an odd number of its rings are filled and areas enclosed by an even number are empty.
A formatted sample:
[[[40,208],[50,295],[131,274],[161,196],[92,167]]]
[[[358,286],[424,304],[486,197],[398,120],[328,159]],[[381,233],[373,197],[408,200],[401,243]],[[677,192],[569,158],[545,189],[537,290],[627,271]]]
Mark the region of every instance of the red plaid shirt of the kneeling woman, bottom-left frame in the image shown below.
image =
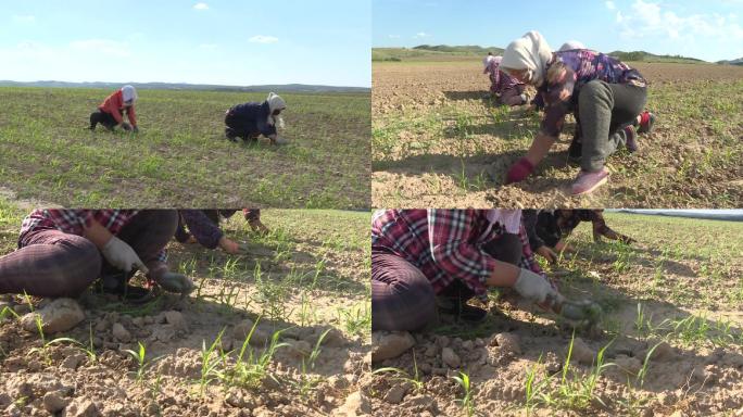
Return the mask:
[[[83,236],[93,220],[105,227],[111,235],[117,235],[138,210],[35,210],[21,225],[18,248],[28,245],[27,237],[36,230],[60,230],[70,235]],[[161,251],[158,260],[165,262],[167,254]]]

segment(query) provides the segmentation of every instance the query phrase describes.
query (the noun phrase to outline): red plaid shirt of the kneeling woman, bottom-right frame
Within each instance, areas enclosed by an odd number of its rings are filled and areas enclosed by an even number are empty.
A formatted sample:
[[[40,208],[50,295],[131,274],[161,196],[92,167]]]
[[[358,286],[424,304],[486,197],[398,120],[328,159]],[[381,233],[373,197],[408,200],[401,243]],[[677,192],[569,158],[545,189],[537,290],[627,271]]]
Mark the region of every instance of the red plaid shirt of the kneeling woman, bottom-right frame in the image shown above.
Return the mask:
[[[495,258],[482,247],[505,233],[487,218],[487,210],[386,210],[372,220],[372,250],[393,253],[418,267],[438,294],[455,279],[462,280],[480,300],[487,300],[486,281],[495,269]],[[529,248],[524,225],[518,233],[520,267],[544,276]]]

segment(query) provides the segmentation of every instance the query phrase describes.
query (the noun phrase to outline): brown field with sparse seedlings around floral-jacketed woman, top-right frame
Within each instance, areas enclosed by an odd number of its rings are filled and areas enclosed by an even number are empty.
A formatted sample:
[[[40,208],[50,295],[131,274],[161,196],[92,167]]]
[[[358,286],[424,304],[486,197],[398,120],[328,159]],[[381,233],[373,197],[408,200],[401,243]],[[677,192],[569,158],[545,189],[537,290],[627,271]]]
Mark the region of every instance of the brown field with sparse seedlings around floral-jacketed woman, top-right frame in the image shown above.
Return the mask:
[[[440,55],[440,54],[439,54]],[[574,122],[526,181],[503,186],[540,115],[495,106],[478,60],[441,56],[373,65],[374,206],[736,207],[743,201],[743,68],[630,63],[648,79],[656,129],[607,160],[607,185],[575,198]]]

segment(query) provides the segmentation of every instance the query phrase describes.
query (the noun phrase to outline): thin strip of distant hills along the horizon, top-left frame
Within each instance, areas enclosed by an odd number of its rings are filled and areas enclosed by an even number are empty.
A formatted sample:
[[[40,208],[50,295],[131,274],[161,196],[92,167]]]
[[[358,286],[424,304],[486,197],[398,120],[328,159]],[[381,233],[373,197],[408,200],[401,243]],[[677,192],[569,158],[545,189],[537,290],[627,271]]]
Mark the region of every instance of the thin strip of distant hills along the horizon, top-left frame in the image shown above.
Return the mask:
[[[186,83],[67,83],[67,81],[30,81],[18,83],[0,80],[1,87],[60,87],[60,88],[121,88],[125,84],[130,84],[138,89],[152,90],[210,90],[210,91],[274,91],[274,92],[369,92],[366,87],[336,87],[336,86],[315,86],[306,84],[282,84],[263,86],[219,86],[210,84],[186,84]]]

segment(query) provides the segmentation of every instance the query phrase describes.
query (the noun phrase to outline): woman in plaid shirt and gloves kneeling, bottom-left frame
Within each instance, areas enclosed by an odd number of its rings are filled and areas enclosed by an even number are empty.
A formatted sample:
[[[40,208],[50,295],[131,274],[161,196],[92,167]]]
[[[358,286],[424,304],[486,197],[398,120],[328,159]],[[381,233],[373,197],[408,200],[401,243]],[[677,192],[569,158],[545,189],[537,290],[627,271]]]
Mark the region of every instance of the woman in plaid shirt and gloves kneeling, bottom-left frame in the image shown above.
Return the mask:
[[[100,278],[102,291],[142,300],[149,290],[128,285],[137,270],[187,294],[191,280],[165,263],[177,224],[175,210],[36,210],[23,220],[18,249],[0,257],[0,294],[76,298]]]

